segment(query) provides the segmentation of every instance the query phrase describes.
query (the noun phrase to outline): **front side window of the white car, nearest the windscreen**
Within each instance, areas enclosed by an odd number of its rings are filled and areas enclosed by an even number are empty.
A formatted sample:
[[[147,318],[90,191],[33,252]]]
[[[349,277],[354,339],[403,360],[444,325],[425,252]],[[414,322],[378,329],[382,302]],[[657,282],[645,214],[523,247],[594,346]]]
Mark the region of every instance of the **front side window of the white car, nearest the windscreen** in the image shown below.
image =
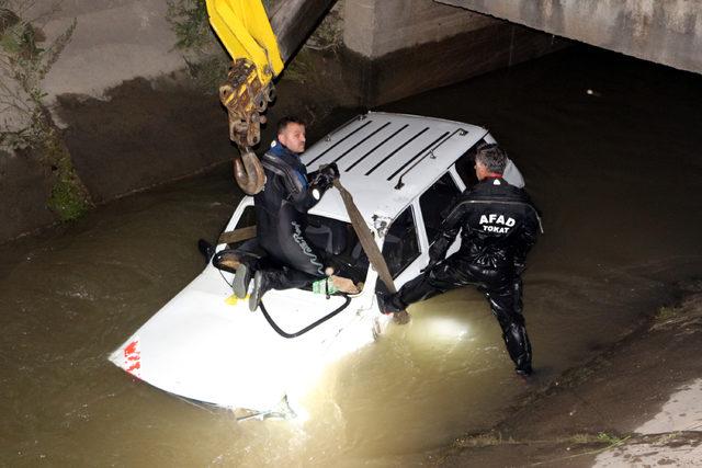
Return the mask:
[[[390,275],[396,278],[419,256],[419,239],[412,207],[408,206],[395,219],[385,235],[383,256]]]

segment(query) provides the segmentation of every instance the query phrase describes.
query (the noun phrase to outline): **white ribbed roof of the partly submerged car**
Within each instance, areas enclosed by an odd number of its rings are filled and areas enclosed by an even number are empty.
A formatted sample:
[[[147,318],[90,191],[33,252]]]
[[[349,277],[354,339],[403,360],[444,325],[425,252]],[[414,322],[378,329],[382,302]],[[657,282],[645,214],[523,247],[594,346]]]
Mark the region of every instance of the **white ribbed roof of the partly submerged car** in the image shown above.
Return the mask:
[[[317,141],[302,161],[308,172],[336,162],[367,222],[373,215],[395,219],[486,134],[461,122],[369,112]],[[337,190],[327,191],[309,213],[349,220]]]

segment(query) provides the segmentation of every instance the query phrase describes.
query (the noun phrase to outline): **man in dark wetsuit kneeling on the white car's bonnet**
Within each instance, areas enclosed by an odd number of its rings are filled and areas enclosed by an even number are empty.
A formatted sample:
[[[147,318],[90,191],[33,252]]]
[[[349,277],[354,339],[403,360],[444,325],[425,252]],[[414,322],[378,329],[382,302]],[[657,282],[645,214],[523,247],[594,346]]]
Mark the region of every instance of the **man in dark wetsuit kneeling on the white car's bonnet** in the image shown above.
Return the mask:
[[[265,185],[253,197],[257,239],[267,253],[269,266],[242,262],[235,275],[234,290],[245,297],[253,277],[249,308],[256,310],[270,289],[304,287],[326,277],[322,253],[305,237],[307,210],[319,202],[338,176],[336,165],[307,174],[299,155],[305,150],[305,124],[283,117],[278,138],[263,155]],[[252,275],[252,273],[254,274]]]

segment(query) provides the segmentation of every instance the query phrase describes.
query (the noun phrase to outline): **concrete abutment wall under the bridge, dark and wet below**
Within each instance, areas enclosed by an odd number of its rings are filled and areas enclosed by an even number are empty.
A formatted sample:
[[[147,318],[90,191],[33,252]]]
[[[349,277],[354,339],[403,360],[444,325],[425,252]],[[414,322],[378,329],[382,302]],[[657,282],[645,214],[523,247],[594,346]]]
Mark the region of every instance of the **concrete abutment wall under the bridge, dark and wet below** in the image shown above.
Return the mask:
[[[432,0],[346,0],[344,44],[356,53],[365,105],[534,58],[566,42]],[[353,61],[353,59],[350,59]]]

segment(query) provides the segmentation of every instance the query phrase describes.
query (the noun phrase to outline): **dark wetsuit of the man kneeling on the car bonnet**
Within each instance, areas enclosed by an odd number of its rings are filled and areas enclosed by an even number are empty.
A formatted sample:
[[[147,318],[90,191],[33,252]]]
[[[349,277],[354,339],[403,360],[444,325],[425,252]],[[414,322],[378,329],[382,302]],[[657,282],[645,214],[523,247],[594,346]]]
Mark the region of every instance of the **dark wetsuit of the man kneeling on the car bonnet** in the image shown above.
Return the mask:
[[[272,269],[263,269],[274,289],[303,287],[324,277],[321,252],[305,237],[307,210],[320,197],[320,189],[309,183],[299,156],[280,141],[261,159],[265,186],[254,197],[257,237]],[[317,189],[317,196],[314,190]]]

